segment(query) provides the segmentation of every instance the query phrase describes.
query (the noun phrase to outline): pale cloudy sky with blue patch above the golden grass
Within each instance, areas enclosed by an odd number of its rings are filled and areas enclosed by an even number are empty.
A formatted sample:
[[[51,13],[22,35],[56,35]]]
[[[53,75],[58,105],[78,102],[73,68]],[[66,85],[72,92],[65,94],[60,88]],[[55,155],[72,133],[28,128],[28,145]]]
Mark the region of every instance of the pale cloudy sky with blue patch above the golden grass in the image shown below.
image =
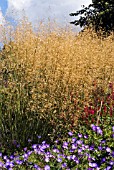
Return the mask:
[[[92,0],[0,0],[0,24],[4,18],[19,20],[24,9],[29,21],[45,22],[55,19],[60,24],[69,24],[74,17],[69,13],[81,9],[81,5],[89,5]]]

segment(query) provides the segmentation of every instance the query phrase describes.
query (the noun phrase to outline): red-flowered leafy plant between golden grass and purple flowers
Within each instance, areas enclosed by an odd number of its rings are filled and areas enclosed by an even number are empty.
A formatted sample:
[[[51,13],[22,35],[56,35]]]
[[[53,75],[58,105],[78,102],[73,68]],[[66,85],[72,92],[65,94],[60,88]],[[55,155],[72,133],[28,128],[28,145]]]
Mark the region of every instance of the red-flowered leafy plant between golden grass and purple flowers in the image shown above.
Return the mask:
[[[79,123],[90,125],[92,123],[107,124],[114,121],[114,91],[113,83],[109,84],[105,92],[102,87],[92,89],[90,101],[84,106],[82,116],[78,119]]]

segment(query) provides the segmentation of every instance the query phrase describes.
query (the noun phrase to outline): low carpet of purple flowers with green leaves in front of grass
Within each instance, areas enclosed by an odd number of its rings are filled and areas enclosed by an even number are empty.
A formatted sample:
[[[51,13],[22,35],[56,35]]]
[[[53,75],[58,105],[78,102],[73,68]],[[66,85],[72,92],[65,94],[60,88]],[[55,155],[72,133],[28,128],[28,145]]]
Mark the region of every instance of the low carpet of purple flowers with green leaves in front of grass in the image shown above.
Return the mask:
[[[0,153],[0,167],[10,170],[113,169],[114,126],[109,124],[102,130],[92,124],[91,129],[82,126],[80,131],[68,135],[67,141],[57,139],[52,146],[43,141],[33,144],[29,150],[25,147],[21,154],[15,152],[8,157]]]

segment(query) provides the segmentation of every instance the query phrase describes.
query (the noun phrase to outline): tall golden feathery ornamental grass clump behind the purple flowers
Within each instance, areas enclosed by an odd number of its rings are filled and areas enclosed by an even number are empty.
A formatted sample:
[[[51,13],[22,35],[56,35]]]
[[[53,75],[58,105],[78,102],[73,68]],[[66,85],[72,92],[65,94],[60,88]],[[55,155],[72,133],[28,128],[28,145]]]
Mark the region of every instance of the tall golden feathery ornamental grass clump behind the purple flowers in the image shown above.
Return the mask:
[[[29,139],[51,144],[58,135],[64,139],[81,123],[86,106],[95,113],[94,124],[99,107],[106,106],[106,114],[111,112],[113,118],[113,100],[107,96],[108,84],[114,82],[113,35],[102,40],[90,29],[76,35],[43,24],[38,30],[24,19],[3,32],[0,143],[4,154],[29,146]]]

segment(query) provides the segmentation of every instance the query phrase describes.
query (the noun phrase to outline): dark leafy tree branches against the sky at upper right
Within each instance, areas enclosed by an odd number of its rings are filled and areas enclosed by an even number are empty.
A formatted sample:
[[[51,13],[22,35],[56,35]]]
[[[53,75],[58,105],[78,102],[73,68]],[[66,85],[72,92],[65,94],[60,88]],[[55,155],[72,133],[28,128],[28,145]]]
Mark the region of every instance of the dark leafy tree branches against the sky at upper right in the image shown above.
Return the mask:
[[[104,35],[109,35],[114,31],[114,2],[109,0],[93,0],[88,7],[70,16],[81,15],[79,20],[71,22],[71,24],[80,25],[81,27],[92,26],[97,33],[103,31]]]

